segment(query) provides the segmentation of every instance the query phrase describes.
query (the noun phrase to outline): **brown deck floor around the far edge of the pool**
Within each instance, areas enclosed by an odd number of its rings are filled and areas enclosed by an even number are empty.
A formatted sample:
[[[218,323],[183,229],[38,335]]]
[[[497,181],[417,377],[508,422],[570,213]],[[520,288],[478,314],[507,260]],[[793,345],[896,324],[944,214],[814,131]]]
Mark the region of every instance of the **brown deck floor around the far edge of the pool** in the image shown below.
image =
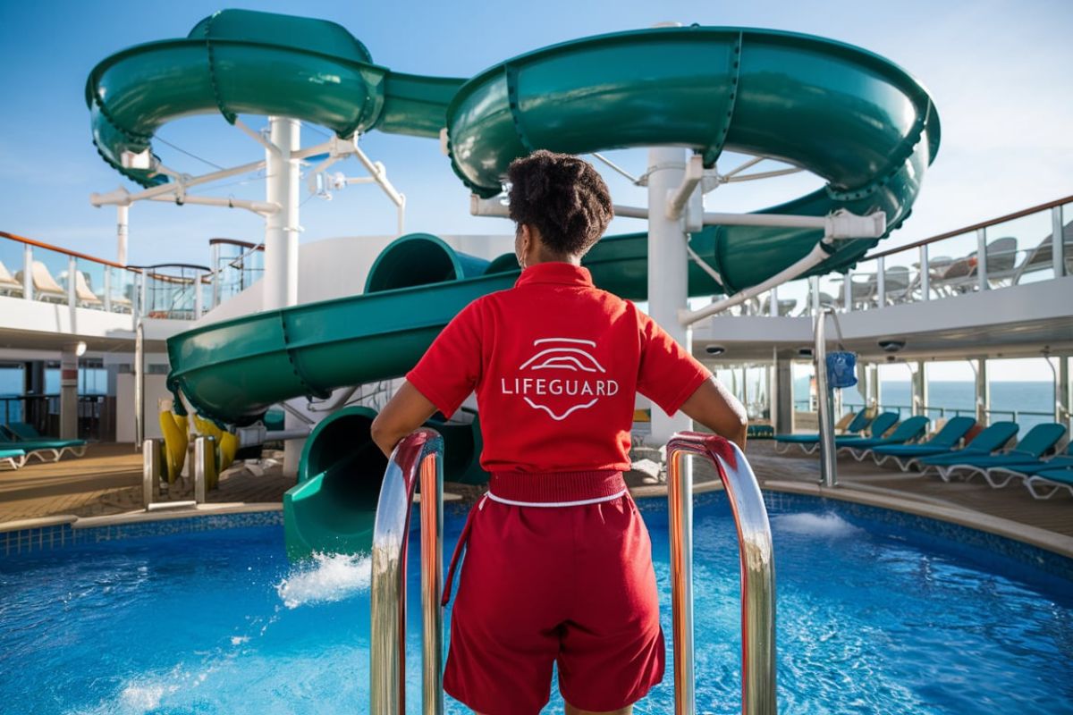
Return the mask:
[[[922,477],[878,467],[870,461],[839,460],[839,487],[818,485],[815,456],[776,455],[770,442],[754,441],[749,461],[766,490],[813,494],[932,517],[1017,538],[1073,557],[1073,498],[1061,493],[1045,502],[1033,500],[1017,483],[991,489],[982,479],[945,483],[936,476]],[[710,465],[697,463],[699,490],[718,489]],[[199,512],[224,513],[279,509],[283,492],[294,485],[278,466],[258,474],[231,470],[220,488],[209,492]],[[477,488],[446,486],[464,498]],[[665,494],[660,485],[633,487],[637,496]],[[189,496],[180,497],[189,498]],[[191,510],[146,513],[142,509],[142,456],[129,444],[91,445],[82,459],[33,462],[16,472],[0,472],[0,532],[32,525],[72,523],[100,525],[143,521]]]

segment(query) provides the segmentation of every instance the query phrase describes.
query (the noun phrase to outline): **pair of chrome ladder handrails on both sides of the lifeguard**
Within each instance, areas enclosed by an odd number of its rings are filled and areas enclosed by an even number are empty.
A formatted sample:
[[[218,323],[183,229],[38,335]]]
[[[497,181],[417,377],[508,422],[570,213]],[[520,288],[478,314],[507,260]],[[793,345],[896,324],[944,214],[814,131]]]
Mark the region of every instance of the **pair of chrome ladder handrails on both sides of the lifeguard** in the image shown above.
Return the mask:
[[[694,715],[693,479],[687,455],[711,460],[726,491],[741,564],[741,713],[776,715],[775,562],[763,495],[745,453],[718,435],[679,432],[667,443],[675,714]],[[422,713],[443,713],[443,438],[423,428],[392,452],[372,537],[370,712],[406,711],[406,564],[410,505],[421,500]],[[428,498],[431,495],[433,498]]]

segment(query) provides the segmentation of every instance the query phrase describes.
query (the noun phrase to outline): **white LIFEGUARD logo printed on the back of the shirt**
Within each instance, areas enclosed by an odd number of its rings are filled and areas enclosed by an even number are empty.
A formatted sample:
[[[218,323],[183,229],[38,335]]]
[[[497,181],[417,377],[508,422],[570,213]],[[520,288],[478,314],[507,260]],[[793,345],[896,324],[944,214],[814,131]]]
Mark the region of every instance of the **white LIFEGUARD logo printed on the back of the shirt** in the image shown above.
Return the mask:
[[[500,378],[500,391],[521,397],[530,407],[555,420],[587,409],[600,398],[618,393],[618,382],[606,377],[607,370],[589,352],[596,346],[591,340],[577,338],[534,340],[533,356],[518,367],[514,377]]]

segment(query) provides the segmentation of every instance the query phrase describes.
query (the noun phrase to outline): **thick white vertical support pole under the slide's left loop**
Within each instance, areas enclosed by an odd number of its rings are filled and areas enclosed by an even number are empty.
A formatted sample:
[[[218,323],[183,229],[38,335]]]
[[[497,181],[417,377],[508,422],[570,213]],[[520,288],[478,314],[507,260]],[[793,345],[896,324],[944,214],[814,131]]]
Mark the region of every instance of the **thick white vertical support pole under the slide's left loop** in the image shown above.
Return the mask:
[[[268,141],[265,149],[266,196],[279,211],[265,219],[264,310],[286,308],[298,302],[298,197],[300,191],[299,160],[302,123],[286,117],[268,118]],[[284,427],[298,427],[288,414]],[[298,461],[305,440],[283,443],[283,474],[298,473]]]

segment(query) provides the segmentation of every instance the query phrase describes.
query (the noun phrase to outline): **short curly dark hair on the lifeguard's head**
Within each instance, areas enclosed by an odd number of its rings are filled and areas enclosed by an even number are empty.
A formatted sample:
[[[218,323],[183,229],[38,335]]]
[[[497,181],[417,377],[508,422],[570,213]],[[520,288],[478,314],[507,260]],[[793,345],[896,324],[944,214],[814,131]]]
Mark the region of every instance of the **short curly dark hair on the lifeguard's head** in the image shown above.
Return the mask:
[[[600,240],[615,210],[603,177],[570,154],[540,149],[511,162],[511,219],[540,230],[560,255],[584,255]]]

